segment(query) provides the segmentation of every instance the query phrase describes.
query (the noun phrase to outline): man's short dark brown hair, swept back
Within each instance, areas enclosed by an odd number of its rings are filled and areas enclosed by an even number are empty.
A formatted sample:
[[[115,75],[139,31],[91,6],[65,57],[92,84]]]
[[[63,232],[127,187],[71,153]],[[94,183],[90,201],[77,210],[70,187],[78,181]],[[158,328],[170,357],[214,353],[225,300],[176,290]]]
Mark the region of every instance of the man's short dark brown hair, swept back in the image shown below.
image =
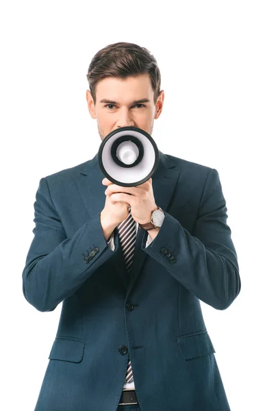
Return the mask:
[[[86,75],[94,103],[95,88],[99,80],[105,77],[124,79],[140,74],[149,74],[155,104],[160,94],[161,75],[155,58],[145,47],[129,42],[116,42],[97,51]]]

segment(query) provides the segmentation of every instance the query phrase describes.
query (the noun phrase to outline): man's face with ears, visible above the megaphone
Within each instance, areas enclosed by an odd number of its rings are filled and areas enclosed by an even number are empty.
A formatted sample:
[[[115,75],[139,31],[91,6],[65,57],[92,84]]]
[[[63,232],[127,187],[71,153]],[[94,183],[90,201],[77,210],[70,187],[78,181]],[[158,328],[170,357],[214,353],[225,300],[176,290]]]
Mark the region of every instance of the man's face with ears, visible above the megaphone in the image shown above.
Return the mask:
[[[153,121],[158,119],[164,103],[164,90],[154,104],[153,88],[148,74],[119,79],[106,77],[96,86],[96,104],[86,91],[88,111],[97,119],[101,140],[120,127],[139,127],[152,134]]]

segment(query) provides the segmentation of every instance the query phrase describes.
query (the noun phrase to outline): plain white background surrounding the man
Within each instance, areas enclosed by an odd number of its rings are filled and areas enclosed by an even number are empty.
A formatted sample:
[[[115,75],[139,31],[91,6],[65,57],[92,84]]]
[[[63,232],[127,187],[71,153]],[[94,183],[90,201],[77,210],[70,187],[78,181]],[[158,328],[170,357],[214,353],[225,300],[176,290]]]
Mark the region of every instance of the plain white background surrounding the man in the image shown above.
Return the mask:
[[[224,311],[201,303],[203,315],[232,411],[273,409],[272,4],[1,5],[1,409],[34,410],[62,306],[38,312],[22,292],[38,182],[97,153],[86,73],[118,41],[158,61],[160,151],[219,171],[242,290]]]

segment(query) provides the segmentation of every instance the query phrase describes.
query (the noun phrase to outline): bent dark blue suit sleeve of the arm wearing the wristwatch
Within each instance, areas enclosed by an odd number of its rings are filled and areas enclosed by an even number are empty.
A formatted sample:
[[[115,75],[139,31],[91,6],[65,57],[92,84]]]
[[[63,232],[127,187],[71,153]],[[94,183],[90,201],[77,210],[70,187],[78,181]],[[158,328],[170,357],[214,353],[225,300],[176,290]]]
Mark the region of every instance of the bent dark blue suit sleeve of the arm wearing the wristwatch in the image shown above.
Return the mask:
[[[192,235],[165,212],[158,235],[142,249],[201,301],[229,307],[241,284],[218,171],[208,173]]]

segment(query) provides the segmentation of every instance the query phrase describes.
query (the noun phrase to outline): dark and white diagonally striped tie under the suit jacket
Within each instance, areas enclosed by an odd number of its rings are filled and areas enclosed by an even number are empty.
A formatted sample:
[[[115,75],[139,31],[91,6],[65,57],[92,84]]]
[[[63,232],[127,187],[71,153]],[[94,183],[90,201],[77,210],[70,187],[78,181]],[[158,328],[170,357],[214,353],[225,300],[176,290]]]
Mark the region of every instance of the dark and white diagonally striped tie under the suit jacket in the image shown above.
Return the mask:
[[[136,242],[136,221],[132,218],[132,213],[129,207],[129,215],[117,226],[118,234],[121,242],[123,256],[125,259],[125,269],[129,274],[132,270],[132,262],[134,255],[134,247]],[[133,381],[132,362],[129,359],[127,364],[127,373],[125,375],[126,382]]]

